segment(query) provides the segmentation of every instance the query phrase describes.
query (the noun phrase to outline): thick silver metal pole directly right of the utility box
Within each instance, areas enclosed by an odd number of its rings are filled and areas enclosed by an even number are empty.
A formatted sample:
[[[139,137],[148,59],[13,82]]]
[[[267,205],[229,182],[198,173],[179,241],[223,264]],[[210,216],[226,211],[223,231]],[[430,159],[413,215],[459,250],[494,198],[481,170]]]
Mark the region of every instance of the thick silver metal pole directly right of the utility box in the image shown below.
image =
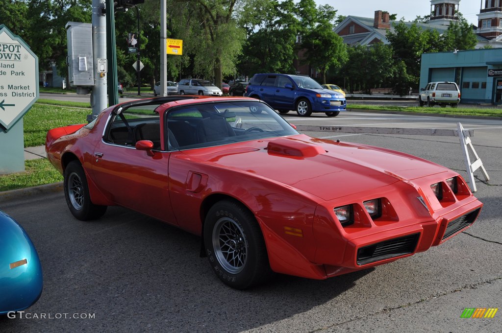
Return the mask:
[[[98,72],[98,59],[106,59],[106,17],[102,0],[92,0],[92,60],[94,86],[91,93],[92,118],[106,108],[106,73]],[[89,119],[90,120],[90,119]]]

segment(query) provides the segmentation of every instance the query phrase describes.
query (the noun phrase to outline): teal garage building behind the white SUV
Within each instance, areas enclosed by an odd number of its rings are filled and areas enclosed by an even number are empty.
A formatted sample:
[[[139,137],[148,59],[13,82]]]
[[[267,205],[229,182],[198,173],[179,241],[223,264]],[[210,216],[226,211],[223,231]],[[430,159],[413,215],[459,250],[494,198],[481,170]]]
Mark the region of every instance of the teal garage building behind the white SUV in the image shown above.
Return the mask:
[[[502,104],[502,49],[424,53],[419,88],[436,81],[456,82],[461,103]]]

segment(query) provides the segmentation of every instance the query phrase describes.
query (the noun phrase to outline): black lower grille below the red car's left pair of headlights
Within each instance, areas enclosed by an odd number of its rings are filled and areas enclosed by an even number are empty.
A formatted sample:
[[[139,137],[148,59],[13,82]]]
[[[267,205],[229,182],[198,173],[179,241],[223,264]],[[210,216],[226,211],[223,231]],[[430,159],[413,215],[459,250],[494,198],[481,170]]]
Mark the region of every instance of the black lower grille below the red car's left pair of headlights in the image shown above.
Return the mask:
[[[413,253],[419,237],[420,233],[416,233],[361,247],[357,250],[357,264],[365,265]]]

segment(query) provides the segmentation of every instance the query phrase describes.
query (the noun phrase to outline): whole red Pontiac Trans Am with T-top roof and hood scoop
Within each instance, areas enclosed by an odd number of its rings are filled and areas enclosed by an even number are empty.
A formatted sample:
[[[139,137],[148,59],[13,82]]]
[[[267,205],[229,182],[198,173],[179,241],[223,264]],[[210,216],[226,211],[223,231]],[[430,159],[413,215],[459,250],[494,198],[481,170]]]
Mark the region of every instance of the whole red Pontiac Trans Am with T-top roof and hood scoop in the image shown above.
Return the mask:
[[[482,207],[454,171],[299,134],[253,98],[114,105],[50,130],[46,150],[75,218],[119,205],[200,235],[216,275],[239,289],[272,272],[326,279],[411,256]]]

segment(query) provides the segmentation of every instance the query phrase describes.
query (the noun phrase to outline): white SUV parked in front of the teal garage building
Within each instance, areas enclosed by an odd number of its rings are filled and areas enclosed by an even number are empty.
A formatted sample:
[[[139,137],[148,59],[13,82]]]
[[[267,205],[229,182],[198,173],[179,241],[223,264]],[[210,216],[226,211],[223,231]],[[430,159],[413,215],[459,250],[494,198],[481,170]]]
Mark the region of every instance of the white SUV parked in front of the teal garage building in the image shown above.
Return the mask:
[[[457,107],[460,103],[460,90],[455,82],[430,82],[425,88],[420,89],[418,102],[420,106],[438,104],[441,107],[446,105]]]

